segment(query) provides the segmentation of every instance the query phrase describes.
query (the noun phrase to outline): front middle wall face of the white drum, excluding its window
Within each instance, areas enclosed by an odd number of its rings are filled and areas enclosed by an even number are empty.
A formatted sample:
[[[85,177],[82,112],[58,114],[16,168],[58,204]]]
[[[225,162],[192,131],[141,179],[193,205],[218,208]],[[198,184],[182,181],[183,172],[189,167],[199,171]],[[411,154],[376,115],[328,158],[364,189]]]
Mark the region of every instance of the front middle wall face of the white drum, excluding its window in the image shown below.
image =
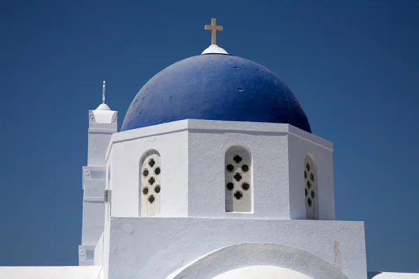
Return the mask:
[[[189,120],[189,216],[289,218],[286,125]],[[226,212],[225,155],[252,156],[253,212]]]

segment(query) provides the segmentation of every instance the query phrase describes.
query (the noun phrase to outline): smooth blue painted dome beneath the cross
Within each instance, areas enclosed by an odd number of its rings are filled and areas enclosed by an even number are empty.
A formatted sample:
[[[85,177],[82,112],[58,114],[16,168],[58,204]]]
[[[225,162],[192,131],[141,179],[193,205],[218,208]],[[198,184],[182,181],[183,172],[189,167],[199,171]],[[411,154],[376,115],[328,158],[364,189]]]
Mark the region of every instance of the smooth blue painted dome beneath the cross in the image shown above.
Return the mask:
[[[293,92],[271,70],[226,54],[184,59],[137,93],[122,131],[182,119],[288,123],[311,133]]]

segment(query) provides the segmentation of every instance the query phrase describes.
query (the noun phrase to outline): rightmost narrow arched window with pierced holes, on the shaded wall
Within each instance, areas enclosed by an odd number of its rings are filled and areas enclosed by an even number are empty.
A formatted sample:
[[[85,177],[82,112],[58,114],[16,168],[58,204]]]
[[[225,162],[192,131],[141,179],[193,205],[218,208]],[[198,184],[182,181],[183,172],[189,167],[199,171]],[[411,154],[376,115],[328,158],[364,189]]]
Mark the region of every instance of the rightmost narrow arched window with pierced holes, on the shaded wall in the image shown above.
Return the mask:
[[[304,159],[304,195],[306,217],[318,220],[317,168],[314,157],[308,154]]]

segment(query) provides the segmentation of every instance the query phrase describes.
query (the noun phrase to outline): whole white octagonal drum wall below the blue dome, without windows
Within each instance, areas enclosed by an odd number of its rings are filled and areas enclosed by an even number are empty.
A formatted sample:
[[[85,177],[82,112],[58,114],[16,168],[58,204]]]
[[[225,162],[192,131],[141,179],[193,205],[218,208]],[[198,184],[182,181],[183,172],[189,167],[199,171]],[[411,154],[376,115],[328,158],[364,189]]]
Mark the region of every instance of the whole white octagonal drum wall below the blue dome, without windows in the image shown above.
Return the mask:
[[[253,213],[225,210],[224,156],[231,146],[253,156]],[[139,161],[149,149],[162,158],[161,216],[305,219],[302,173],[312,153],[323,164],[320,219],[335,218],[330,142],[288,124],[194,119],[112,135],[112,216],[138,216]]]

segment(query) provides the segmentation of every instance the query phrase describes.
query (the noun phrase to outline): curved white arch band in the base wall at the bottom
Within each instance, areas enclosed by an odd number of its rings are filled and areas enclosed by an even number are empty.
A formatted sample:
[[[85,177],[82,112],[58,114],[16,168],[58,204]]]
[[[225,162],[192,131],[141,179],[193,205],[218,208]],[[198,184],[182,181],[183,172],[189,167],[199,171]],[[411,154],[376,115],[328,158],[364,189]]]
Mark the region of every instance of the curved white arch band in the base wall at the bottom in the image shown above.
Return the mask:
[[[348,279],[321,257],[278,243],[240,243],[226,246],[183,266],[166,279],[214,278],[247,266],[279,266],[313,279]]]

